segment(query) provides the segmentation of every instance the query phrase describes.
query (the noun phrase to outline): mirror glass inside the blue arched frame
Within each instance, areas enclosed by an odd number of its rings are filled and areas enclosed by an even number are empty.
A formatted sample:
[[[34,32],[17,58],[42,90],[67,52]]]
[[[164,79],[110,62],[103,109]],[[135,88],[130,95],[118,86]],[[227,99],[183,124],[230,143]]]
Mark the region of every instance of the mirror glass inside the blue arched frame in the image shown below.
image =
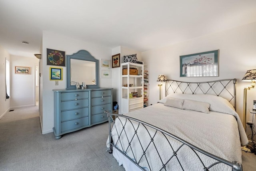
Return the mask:
[[[96,62],[70,59],[70,85],[80,85],[85,82],[86,85],[94,85],[96,80]]]

